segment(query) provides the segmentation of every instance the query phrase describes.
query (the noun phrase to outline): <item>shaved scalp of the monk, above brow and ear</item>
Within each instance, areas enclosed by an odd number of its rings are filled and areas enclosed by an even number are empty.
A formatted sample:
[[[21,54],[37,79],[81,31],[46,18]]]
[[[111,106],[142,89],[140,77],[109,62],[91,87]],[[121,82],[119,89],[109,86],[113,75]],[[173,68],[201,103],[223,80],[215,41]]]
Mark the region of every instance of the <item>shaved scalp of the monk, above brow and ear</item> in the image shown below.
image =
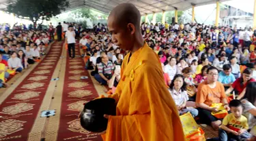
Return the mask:
[[[134,24],[136,28],[139,28],[141,24],[141,13],[132,3],[117,5],[109,16],[115,19],[118,26],[126,26],[131,23]]]

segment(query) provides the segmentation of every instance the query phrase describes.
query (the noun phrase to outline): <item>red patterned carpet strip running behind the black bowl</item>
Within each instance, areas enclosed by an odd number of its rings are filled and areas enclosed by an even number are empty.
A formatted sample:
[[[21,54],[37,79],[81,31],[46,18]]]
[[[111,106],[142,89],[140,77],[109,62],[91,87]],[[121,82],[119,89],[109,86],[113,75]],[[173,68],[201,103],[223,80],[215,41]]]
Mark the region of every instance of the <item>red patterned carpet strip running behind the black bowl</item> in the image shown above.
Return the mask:
[[[76,56],[80,55],[76,45]],[[102,141],[101,136],[87,132],[80,125],[78,115],[83,110],[83,103],[98,97],[89,73],[85,70],[82,58],[68,59],[61,102],[61,116],[57,140]],[[81,80],[81,76],[89,79]]]

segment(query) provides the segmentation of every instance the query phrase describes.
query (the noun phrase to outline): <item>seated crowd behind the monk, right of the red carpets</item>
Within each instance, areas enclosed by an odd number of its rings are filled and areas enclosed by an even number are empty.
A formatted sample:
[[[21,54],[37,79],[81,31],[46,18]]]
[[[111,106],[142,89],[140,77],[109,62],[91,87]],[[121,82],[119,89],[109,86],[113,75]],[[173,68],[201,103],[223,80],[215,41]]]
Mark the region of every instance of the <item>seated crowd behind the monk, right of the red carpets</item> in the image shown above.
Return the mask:
[[[220,140],[256,136],[253,121],[256,99],[251,96],[254,94],[251,89],[256,90],[256,31],[165,22],[142,23],[141,33],[145,43],[159,56],[165,84],[180,115],[190,112],[199,123],[220,129]],[[110,94],[115,93],[122,60],[128,52],[111,41],[106,26],[95,26],[94,31],[84,31],[81,37],[79,43],[86,68],[92,70],[91,75],[100,84],[111,88]],[[232,100],[233,95],[237,100]],[[188,106],[188,101],[192,106]],[[212,104],[219,103],[226,110],[231,109],[224,120],[212,115],[218,112]],[[246,107],[244,111],[242,106]],[[242,113],[249,113],[251,117],[246,119]],[[253,122],[249,127],[247,120]],[[238,122],[232,124],[233,121]],[[233,130],[235,128],[237,130]],[[244,135],[247,129],[252,136]]]

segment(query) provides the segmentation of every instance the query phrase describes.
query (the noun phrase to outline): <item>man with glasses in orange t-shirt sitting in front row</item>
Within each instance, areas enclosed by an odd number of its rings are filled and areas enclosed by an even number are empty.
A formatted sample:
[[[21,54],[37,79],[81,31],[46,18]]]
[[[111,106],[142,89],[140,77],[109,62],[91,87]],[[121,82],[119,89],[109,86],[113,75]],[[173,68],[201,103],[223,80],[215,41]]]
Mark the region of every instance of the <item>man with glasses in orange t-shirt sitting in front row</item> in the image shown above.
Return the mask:
[[[230,110],[225,95],[225,89],[221,82],[218,82],[218,69],[210,66],[207,70],[207,81],[203,81],[197,88],[196,106],[199,110],[199,119],[202,123],[212,125],[218,129],[221,119],[212,115],[212,111],[218,112],[217,108],[210,107],[214,103],[223,103],[224,108]]]

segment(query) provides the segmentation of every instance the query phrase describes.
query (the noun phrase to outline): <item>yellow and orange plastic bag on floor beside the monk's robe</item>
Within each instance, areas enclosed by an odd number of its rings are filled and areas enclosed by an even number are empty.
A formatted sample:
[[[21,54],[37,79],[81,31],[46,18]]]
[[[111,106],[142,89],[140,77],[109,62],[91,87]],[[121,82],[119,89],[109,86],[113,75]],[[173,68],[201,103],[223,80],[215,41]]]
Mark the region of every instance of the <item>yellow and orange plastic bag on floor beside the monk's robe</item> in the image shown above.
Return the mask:
[[[195,122],[195,119],[193,116],[188,112],[184,115],[180,116],[180,121],[182,121],[182,127],[184,136],[186,138],[186,141],[204,141],[205,136],[203,129],[201,129],[197,123]]]

